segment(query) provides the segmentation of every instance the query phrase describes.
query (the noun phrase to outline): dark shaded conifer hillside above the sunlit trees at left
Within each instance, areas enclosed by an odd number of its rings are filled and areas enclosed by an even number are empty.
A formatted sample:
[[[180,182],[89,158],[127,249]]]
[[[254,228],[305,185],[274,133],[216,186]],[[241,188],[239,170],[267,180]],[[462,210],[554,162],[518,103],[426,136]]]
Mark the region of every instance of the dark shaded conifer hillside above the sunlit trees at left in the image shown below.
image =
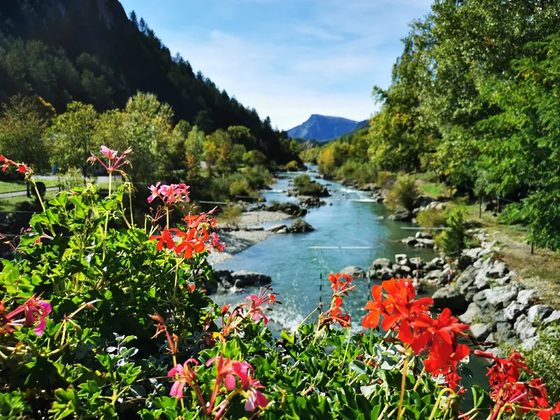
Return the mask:
[[[137,91],[153,92],[210,133],[244,125],[267,155],[286,137],[225,90],[195,73],[141,18],[118,0],[16,0],[0,6],[0,102],[38,94],[58,113],[76,100],[98,111],[121,108]]]

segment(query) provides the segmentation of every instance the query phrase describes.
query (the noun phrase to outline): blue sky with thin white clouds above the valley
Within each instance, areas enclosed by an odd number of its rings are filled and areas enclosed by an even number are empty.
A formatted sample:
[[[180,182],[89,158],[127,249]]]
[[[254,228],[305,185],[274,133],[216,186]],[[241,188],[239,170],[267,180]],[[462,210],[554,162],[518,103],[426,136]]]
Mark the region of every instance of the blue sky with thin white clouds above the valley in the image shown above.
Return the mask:
[[[365,120],[407,24],[431,0],[120,0],[195,71],[288,130],[312,113]]]

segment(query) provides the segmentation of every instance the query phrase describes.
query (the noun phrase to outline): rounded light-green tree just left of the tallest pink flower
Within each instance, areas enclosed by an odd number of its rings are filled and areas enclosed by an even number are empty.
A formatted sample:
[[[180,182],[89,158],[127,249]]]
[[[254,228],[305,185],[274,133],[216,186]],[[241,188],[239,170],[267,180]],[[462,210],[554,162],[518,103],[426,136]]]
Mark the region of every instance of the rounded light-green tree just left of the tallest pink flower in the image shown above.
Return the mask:
[[[71,167],[83,168],[86,175],[86,160],[99,151],[94,141],[98,113],[92,105],[71,102],[65,113],[52,120],[48,130],[48,141],[52,151],[50,160],[62,170]]]

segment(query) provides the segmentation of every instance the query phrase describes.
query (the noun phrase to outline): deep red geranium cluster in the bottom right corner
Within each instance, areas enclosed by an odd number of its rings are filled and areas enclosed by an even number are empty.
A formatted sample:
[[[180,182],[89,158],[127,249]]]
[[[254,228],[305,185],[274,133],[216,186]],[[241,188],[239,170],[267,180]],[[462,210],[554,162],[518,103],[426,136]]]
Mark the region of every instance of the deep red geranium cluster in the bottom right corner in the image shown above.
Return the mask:
[[[486,376],[489,376],[490,398],[496,402],[492,419],[498,416],[500,410],[505,412],[536,412],[543,420],[548,420],[552,414],[560,412],[560,402],[554,407],[548,406],[547,391],[542,379],[535,378],[528,382],[519,381],[521,370],[525,370],[533,377],[521,354],[513,352],[509,358],[503,359],[491,353],[475,350],[477,356],[493,359],[493,365]]]

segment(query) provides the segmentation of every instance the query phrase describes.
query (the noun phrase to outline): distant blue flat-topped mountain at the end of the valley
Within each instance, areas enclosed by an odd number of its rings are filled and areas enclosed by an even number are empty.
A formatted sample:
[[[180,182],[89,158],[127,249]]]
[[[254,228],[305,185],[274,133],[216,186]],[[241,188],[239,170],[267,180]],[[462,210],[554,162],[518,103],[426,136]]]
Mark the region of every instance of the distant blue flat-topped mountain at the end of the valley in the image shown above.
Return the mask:
[[[348,132],[356,130],[367,124],[368,121],[354,121],[340,117],[312,115],[302,125],[288,130],[288,136],[292,139],[307,139],[316,141],[329,141],[336,139]]]

